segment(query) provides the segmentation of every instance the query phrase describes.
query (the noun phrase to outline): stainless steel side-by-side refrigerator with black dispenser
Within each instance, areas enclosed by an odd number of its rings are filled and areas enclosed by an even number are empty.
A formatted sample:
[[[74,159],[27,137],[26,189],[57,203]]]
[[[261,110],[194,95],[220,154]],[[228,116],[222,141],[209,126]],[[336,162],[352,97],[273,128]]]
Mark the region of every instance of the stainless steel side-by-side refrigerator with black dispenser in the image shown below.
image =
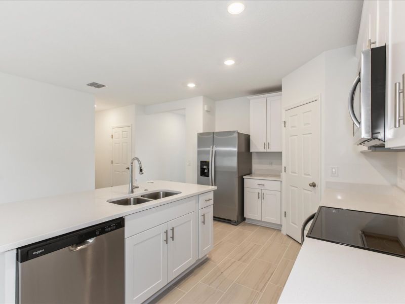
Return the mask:
[[[197,183],[214,185],[214,218],[244,220],[244,180],[252,173],[250,136],[237,131],[197,134]]]

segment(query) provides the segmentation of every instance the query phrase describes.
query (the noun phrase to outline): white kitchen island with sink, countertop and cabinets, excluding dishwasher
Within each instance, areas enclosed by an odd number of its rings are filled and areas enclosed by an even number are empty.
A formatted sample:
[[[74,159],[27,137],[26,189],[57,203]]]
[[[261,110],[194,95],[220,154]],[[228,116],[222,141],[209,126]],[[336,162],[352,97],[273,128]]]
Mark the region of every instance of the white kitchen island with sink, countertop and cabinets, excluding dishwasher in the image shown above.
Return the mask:
[[[212,206],[215,189],[215,186],[151,181],[141,183],[130,196],[141,196],[157,191],[178,194],[130,206],[107,202],[107,200],[129,196],[128,185],[122,185],[0,204],[0,220],[6,227],[5,233],[0,235],[0,303],[16,301],[16,248],[119,217],[125,217],[126,302],[146,300],[170,281],[194,267],[211,250],[213,246]],[[199,220],[200,217],[204,217],[204,223]],[[178,225],[179,229],[181,229],[180,226],[184,226],[188,231],[178,234],[177,246],[165,249],[166,261],[164,257],[161,257],[161,261],[149,261],[151,266],[156,265],[157,262],[167,265],[166,269],[160,269],[162,272],[160,274],[153,273],[152,268],[149,268],[149,275],[160,275],[161,282],[153,288],[136,286],[134,282],[139,281],[140,276],[145,274],[134,274],[127,268],[134,262],[128,250],[147,250],[147,248],[134,247],[137,236],[154,227],[163,227],[168,224],[171,225],[169,229],[176,229],[175,226]],[[180,236],[183,236],[184,240]],[[184,249],[183,241],[184,246],[191,245],[188,248],[189,255],[183,255],[184,260],[171,259],[171,256],[176,255],[175,250]],[[143,262],[147,261],[145,259]],[[146,281],[143,280],[143,282]],[[139,288],[145,288],[145,290],[142,291]]]

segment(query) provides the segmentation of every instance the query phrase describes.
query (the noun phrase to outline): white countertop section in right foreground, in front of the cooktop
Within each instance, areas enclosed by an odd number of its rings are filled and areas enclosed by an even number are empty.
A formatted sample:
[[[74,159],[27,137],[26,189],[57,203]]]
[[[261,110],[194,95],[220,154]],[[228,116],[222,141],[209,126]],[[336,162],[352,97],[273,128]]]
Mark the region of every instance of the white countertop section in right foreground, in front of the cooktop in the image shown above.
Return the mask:
[[[403,303],[405,258],[306,238],[278,303]]]

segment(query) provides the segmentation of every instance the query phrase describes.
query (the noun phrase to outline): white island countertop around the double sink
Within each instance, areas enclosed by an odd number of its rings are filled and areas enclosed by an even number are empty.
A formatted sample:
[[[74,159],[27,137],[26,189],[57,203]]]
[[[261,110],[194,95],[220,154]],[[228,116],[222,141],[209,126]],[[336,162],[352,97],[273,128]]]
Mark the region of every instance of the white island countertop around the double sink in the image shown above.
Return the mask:
[[[15,249],[69,233],[117,217],[215,190],[215,186],[172,181],[140,183],[131,196],[154,191],[181,194],[134,206],[121,206],[107,200],[128,196],[128,185],[92,191],[0,204],[0,252]]]

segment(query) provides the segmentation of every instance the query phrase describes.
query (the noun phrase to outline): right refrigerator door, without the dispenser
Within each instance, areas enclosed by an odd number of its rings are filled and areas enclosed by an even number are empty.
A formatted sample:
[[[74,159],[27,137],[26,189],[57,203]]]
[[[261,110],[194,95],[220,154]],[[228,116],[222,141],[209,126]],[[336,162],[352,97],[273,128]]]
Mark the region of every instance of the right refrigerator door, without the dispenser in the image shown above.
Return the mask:
[[[214,217],[237,220],[237,131],[214,132]]]

